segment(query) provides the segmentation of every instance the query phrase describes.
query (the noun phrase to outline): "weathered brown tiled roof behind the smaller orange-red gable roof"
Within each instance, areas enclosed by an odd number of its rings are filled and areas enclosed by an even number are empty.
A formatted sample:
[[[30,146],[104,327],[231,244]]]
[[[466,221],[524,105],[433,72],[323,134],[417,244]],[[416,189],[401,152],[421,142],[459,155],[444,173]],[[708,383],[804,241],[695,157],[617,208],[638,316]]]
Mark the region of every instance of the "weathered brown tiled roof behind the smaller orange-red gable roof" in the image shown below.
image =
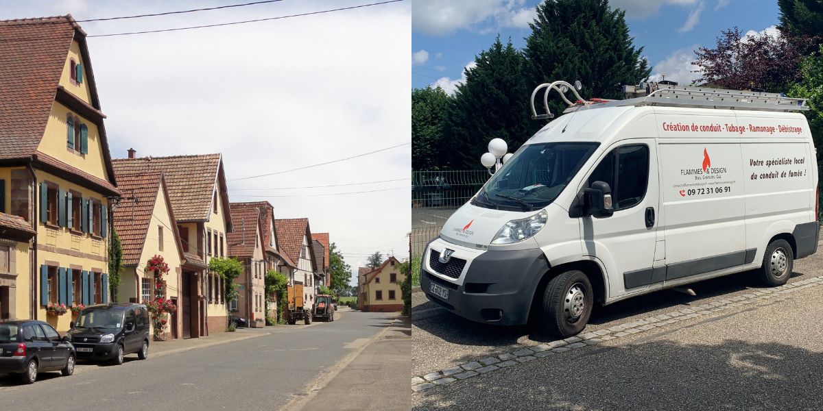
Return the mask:
[[[118,176],[128,173],[161,171],[169,187],[171,205],[178,220],[205,220],[212,210],[212,195],[218,173],[221,170],[221,155],[173,155],[170,157],[142,157],[137,159],[114,159],[114,173]],[[221,181],[221,186],[225,182]],[[228,193],[223,190],[223,198]],[[224,201],[224,212],[228,203]],[[230,214],[230,213],[226,213]]]

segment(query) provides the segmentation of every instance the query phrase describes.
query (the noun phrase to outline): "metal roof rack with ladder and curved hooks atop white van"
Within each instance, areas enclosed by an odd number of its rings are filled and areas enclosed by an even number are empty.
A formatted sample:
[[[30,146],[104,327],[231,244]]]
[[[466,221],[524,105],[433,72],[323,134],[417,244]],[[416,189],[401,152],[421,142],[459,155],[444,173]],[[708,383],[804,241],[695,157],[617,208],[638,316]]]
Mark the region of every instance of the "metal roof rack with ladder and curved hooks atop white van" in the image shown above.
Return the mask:
[[[537,91],[546,88],[543,93],[543,108],[545,114],[537,114],[534,107],[534,97]],[[576,89],[576,90],[575,90]],[[591,99],[586,101],[580,98],[577,90],[580,90],[579,82],[575,81],[572,86],[565,81],[554,81],[538,85],[532,92],[532,118],[554,118],[548,107],[548,95],[551,90],[556,90],[560,98],[569,105],[564,113],[570,113],[578,109],[595,109],[600,107],[616,106],[668,106],[668,107],[689,107],[700,109],[742,109],[759,111],[805,111],[809,107],[806,105],[807,99],[794,99],[779,93],[765,93],[762,91],[748,90],[725,90],[708,87],[691,87],[683,85],[660,84],[656,82],[641,83],[640,85],[624,85],[621,100]],[[565,96],[567,90],[574,92],[577,101],[572,103]]]

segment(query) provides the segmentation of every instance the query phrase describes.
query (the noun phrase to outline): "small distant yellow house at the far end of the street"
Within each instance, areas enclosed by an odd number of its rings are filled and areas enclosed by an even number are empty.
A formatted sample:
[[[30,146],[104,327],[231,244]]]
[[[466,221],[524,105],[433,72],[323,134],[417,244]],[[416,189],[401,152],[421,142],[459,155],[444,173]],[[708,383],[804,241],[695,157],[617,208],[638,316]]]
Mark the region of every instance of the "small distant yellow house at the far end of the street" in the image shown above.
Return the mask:
[[[406,279],[400,261],[389,257],[382,265],[363,275],[358,305],[365,312],[398,312],[403,309],[400,284]]]

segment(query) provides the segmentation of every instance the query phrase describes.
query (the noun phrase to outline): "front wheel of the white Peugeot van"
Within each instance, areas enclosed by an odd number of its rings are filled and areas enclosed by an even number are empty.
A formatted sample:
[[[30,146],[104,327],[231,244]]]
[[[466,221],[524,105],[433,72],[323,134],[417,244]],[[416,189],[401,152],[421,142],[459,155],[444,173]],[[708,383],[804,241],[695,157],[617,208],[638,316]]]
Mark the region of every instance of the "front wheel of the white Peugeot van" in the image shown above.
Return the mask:
[[[580,270],[557,275],[546,284],[542,300],[542,323],[549,333],[563,338],[579,334],[588,323],[594,306],[592,282]]]

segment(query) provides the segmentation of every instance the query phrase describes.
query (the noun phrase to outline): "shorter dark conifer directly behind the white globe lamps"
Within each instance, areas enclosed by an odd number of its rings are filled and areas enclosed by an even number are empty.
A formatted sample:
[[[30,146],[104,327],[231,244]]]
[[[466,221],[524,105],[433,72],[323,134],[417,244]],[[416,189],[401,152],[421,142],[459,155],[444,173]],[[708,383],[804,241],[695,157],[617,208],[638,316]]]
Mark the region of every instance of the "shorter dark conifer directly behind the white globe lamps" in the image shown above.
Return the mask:
[[[482,169],[480,157],[491,139],[502,138],[514,151],[542,127],[531,119],[525,62],[511,40],[503,44],[498,36],[466,70],[444,122],[449,144],[435,147],[449,153],[454,169]]]

